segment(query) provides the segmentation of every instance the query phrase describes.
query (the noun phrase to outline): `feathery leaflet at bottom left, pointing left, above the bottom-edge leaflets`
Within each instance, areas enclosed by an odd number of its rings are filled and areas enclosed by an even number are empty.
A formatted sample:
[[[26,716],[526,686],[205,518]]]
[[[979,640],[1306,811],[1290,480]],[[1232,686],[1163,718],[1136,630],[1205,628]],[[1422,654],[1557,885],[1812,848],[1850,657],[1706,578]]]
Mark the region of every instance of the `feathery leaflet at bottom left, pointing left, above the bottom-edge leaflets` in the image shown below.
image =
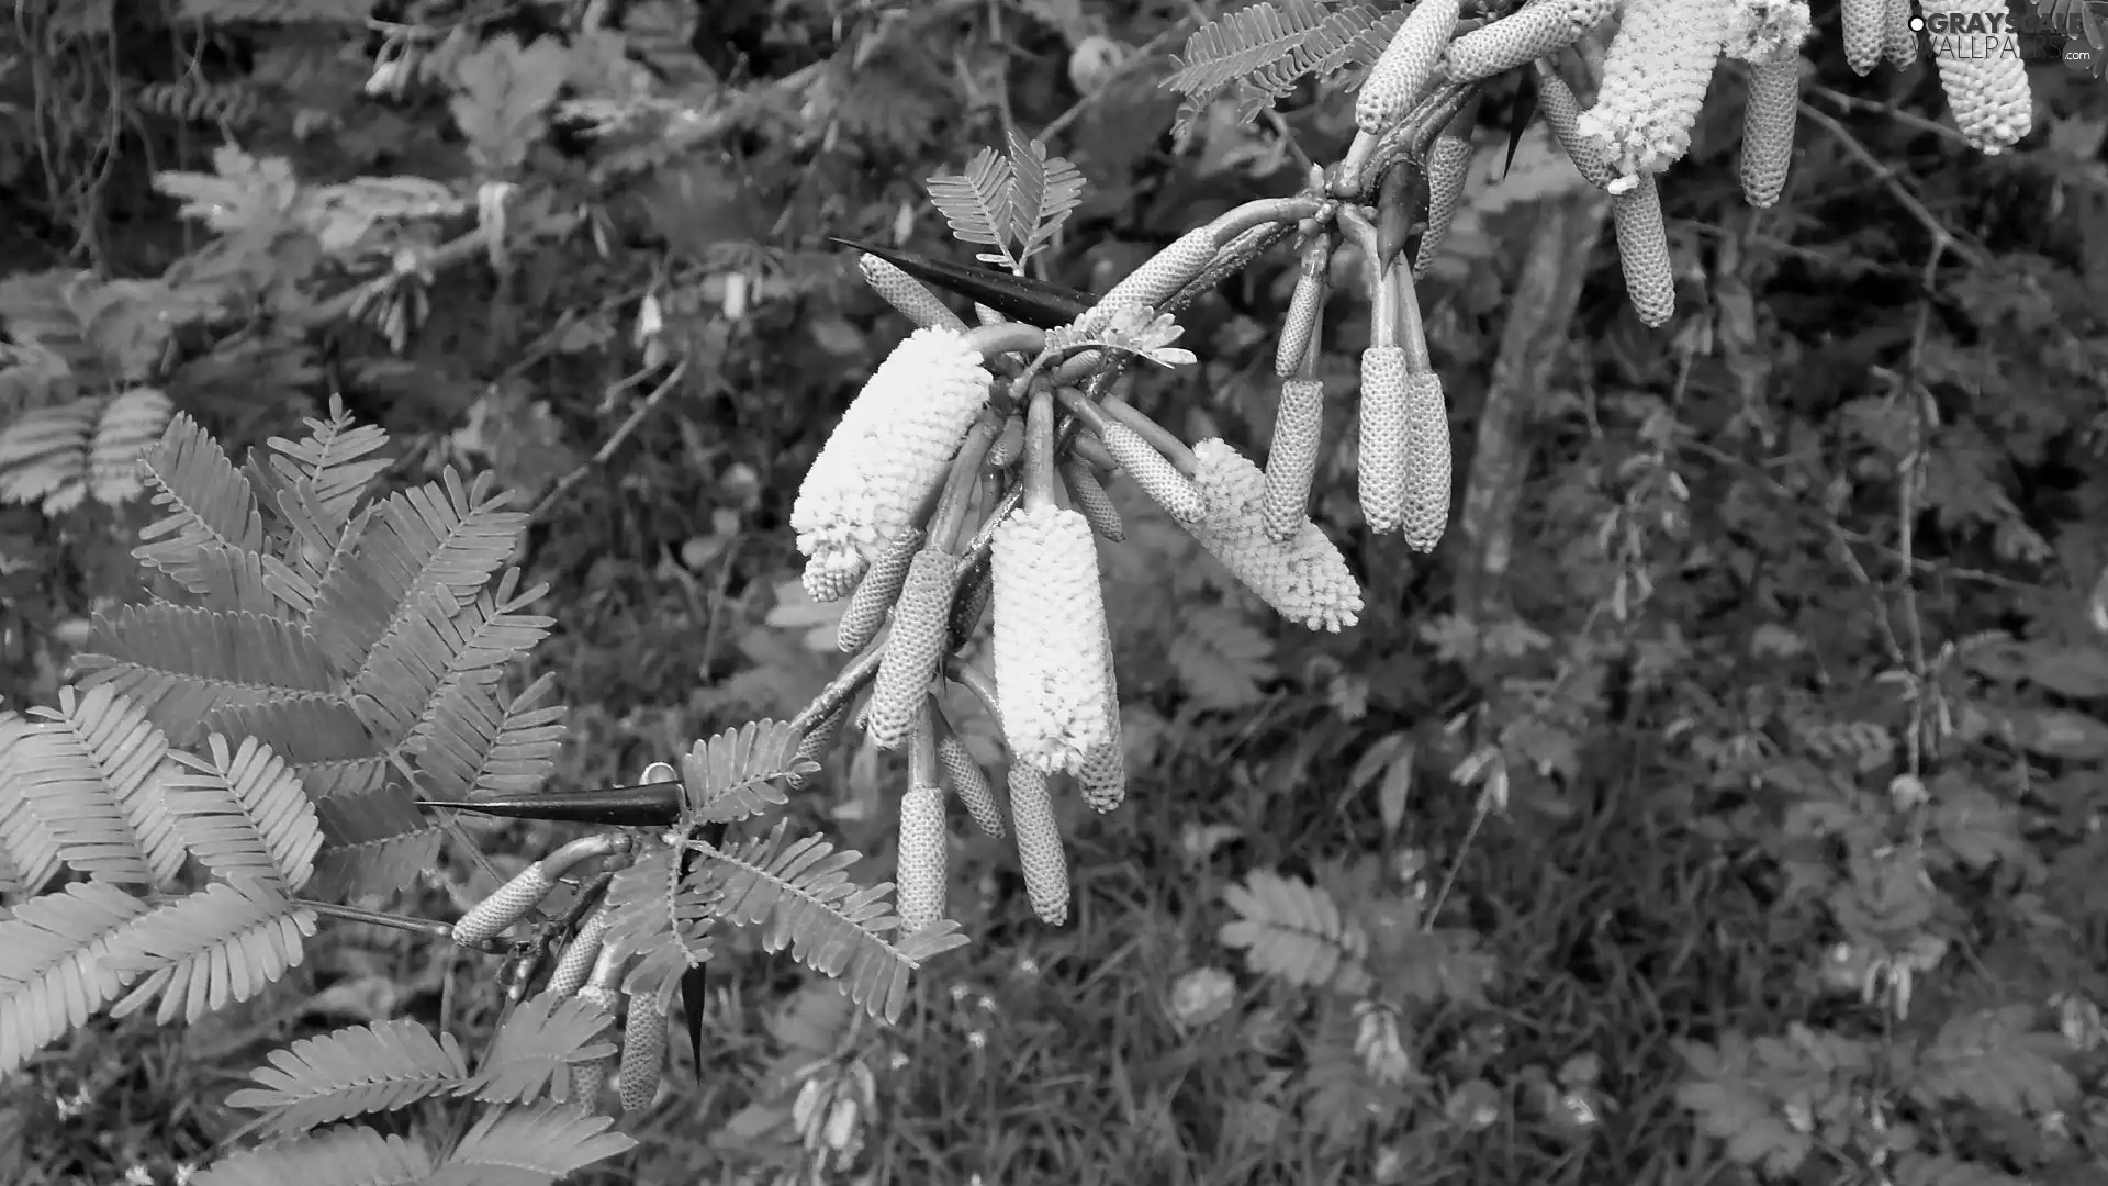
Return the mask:
[[[350,1116],[394,1112],[470,1083],[453,1034],[432,1036],[419,1021],[348,1026],[270,1053],[249,1072],[257,1087],[228,1095],[228,1106],[270,1112],[270,1129],[304,1133]]]

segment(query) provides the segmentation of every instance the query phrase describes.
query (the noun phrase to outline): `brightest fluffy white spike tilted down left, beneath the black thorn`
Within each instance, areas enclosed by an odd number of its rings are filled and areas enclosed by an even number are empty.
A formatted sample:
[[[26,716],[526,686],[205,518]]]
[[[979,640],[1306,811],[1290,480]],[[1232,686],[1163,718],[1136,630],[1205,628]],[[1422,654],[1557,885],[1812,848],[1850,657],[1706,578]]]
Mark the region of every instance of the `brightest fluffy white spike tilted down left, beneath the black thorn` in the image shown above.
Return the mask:
[[[790,509],[799,551],[826,572],[879,559],[944,479],[989,382],[963,333],[917,329],[900,342],[805,473]]]

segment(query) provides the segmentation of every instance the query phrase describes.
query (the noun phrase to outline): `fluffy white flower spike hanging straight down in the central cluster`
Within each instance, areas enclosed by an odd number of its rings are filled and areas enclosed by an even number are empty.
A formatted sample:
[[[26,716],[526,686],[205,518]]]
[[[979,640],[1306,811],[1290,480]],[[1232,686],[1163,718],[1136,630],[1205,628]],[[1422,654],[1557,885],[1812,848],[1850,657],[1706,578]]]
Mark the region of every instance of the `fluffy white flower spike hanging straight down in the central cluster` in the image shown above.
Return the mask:
[[[1105,739],[1098,544],[1075,511],[1022,506],[995,530],[995,688],[1016,762],[1075,772]]]

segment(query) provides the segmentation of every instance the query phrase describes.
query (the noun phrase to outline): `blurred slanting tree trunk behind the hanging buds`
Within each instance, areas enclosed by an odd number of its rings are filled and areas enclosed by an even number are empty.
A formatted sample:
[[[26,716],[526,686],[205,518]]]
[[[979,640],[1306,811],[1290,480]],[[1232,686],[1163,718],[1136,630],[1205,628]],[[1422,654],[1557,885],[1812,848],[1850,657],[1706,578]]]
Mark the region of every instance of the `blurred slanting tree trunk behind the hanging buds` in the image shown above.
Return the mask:
[[[1478,443],[1465,477],[1459,530],[1465,540],[1457,572],[1457,612],[1471,623],[1507,616],[1507,563],[1516,542],[1516,504],[1528,454],[1522,426],[1530,401],[1551,384],[1551,367],[1566,350],[1566,331],[1581,304],[1581,281],[1602,234],[1611,198],[1585,188],[1539,205],[1528,255],[1501,331],[1486,407],[1478,416]]]

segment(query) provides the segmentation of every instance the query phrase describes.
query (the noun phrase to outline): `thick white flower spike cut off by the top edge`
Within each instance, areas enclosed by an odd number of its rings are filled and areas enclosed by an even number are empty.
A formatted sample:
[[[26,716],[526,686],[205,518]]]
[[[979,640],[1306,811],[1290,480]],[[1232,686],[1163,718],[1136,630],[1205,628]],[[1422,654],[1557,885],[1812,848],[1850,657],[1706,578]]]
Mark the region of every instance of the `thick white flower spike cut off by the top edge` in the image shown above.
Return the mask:
[[[1629,0],[1581,133],[1621,175],[1659,173],[1691,148],[1726,38],[1731,0]]]

